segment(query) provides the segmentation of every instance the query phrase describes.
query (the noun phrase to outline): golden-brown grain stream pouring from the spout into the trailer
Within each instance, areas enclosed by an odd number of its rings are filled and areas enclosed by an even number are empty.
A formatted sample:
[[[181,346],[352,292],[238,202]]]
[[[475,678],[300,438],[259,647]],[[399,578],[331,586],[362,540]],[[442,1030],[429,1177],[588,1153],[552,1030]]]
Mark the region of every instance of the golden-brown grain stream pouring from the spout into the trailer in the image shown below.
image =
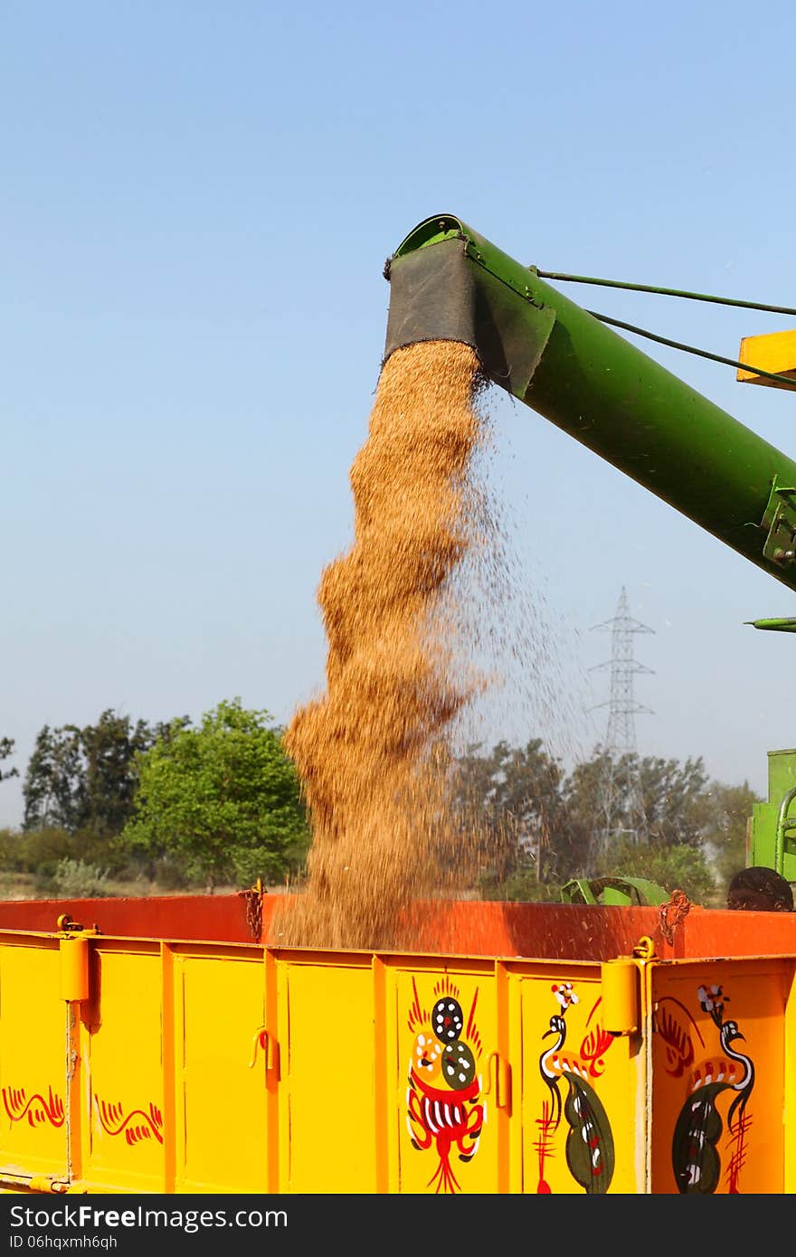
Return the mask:
[[[382,367],[351,469],[353,543],[318,591],[326,690],[285,733],[313,841],[272,941],[405,949],[423,905],[467,877],[449,733],[479,679],[456,652],[451,586],[475,533],[482,385],[455,342],[397,349]]]

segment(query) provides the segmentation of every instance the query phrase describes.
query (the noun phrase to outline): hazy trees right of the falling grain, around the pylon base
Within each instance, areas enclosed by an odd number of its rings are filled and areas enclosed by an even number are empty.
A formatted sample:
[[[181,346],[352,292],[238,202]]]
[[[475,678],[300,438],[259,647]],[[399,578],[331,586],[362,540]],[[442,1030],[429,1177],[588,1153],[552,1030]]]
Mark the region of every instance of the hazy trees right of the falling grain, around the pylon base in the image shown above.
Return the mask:
[[[459,760],[458,806],[483,847],[480,890],[495,899],[550,899],[572,877],[644,876],[697,903],[716,900],[716,877],[744,864],[741,835],[755,796],[748,786],[710,782],[702,758],[634,755],[614,766],[615,821],[631,827],[627,782],[635,774],[646,841],[599,845],[606,752],[565,774],[541,739],[524,748],[472,747]],[[718,852],[718,855],[717,855]]]

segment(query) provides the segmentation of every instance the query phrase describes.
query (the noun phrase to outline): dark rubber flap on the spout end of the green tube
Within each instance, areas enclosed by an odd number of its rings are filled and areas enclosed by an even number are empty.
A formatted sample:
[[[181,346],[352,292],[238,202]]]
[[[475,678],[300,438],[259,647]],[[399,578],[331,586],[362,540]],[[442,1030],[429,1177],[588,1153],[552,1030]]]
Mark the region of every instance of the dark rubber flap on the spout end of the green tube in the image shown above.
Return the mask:
[[[473,261],[464,239],[392,258],[389,279],[385,362],[419,341],[460,341],[490,380],[524,397],[556,319],[551,307],[532,305]]]

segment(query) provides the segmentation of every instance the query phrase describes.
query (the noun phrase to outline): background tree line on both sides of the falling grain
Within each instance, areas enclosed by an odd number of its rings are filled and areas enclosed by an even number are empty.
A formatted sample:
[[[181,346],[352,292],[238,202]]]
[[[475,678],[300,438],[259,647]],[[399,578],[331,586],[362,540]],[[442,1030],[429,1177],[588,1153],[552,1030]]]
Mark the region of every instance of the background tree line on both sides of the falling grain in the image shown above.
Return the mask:
[[[14,750],[0,739],[0,781]],[[746,864],[758,796],[748,783],[709,781],[702,758],[625,757],[612,766],[616,828],[631,827],[627,781],[640,783],[648,841],[597,843],[604,749],[566,773],[541,738],[474,744],[454,764],[463,842],[475,843],[482,895],[557,899],[582,876],[645,876],[695,901],[723,903]],[[172,889],[219,881],[280,881],[309,845],[299,782],[268,711],[220,703],[197,728],[187,716],[133,723],[107,709],[96,724],[45,725],[23,786],[23,833],[0,852],[8,869],[53,879],[83,861],[113,876],[167,880]],[[201,882],[200,882],[201,884]]]

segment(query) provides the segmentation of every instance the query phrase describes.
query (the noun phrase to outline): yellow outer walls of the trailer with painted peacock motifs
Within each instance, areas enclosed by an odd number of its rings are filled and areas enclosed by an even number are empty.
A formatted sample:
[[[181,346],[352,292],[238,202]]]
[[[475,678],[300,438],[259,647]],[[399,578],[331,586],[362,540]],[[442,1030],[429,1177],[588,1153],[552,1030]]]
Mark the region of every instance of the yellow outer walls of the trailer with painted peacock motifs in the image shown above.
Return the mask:
[[[792,1194],[795,973],[6,931],[0,1190]]]

